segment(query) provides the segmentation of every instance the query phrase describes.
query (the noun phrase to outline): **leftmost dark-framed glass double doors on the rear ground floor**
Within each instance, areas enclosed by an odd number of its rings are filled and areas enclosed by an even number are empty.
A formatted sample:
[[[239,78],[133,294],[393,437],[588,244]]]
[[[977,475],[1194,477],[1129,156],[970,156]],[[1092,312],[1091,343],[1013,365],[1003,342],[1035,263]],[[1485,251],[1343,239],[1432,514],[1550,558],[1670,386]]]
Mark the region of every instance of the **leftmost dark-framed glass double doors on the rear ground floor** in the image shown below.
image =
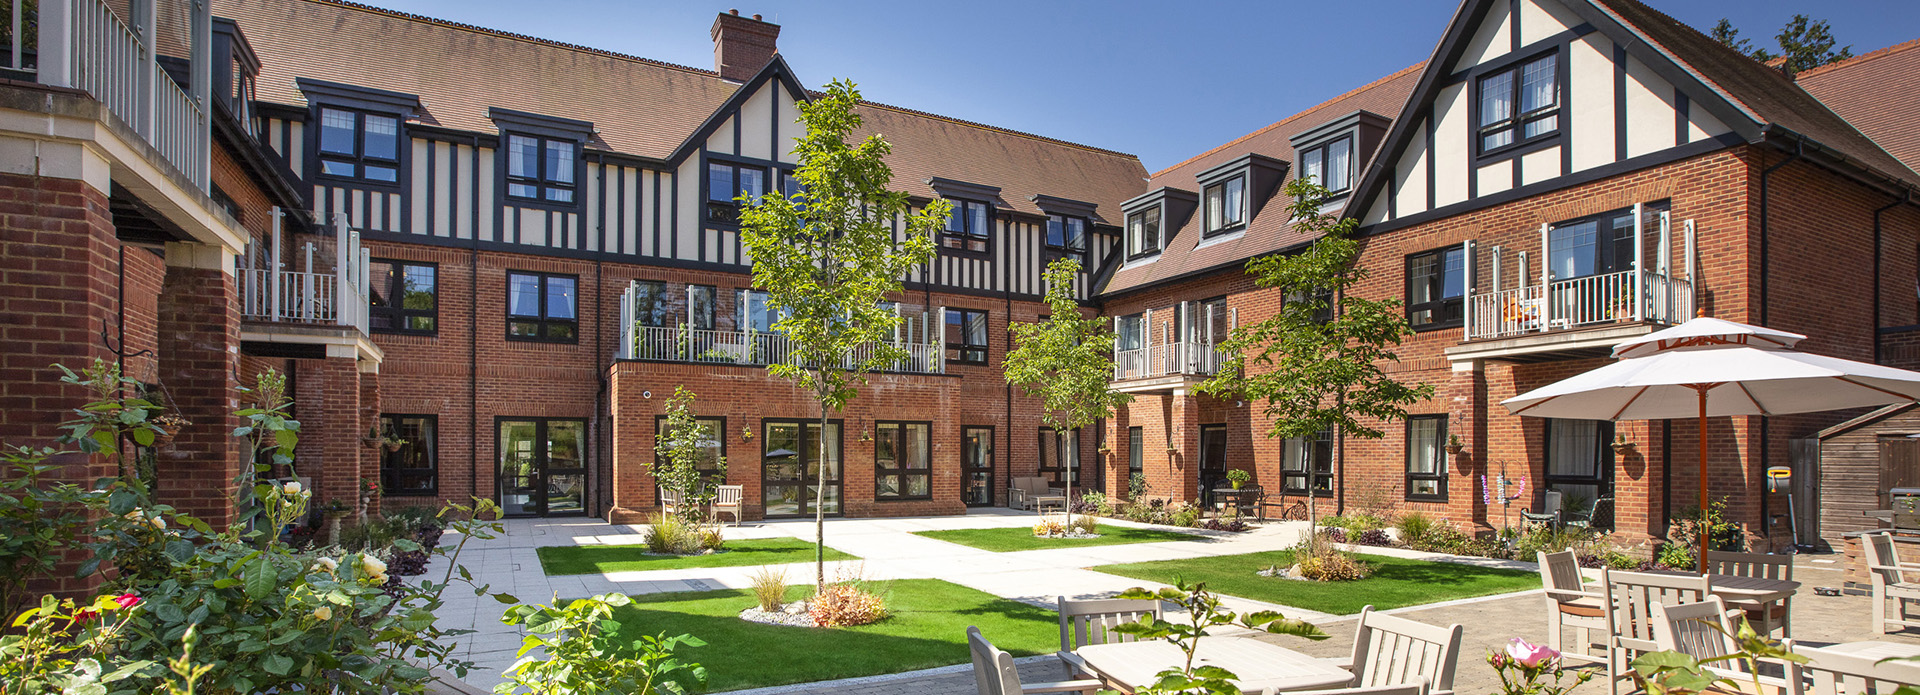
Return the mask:
[[[501,419],[499,507],[509,516],[586,515],[586,420]]]

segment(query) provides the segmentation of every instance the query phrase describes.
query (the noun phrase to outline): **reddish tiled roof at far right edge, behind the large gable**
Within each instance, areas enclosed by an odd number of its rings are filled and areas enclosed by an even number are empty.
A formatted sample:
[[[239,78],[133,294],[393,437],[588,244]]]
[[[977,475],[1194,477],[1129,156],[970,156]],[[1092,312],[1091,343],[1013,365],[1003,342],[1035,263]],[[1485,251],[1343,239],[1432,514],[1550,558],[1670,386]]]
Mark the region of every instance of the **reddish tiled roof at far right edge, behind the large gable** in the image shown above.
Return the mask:
[[[1920,38],[1801,71],[1793,81],[1907,167],[1920,169]]]

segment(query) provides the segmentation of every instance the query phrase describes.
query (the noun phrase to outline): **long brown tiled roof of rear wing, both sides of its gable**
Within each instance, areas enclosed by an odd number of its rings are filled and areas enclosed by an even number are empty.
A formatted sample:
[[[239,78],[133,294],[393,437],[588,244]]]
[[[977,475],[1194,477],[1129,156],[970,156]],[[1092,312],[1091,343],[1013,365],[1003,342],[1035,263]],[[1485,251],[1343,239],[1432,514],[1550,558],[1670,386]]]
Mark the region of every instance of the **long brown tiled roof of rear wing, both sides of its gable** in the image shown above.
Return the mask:
[[[259,100],[305,106],[296,79],[417,94],[420,123],[493,132],[490,108],[589,121],[589,146],[666,159],[739,83],[718,73],[340,0],[215,0],[261,58]],[[705,27],[689,31],[705,33]],[[883,104],[866,131],[893,142],[895,186],[931,196],[929,177],[1000,186],[1012,209],[1033,194],[1083,200],[1116,219],[1144,190],[1127,154]]]

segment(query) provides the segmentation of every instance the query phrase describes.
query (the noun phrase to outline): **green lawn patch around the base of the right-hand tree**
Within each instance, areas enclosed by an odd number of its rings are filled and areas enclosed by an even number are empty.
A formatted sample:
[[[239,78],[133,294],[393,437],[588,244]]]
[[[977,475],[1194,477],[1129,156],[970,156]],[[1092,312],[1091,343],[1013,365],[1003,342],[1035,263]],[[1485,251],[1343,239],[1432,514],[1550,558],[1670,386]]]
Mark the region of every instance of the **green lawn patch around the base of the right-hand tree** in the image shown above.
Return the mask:
[[[1384,555],[1361,555],[1361,559],[1373,564],[1375,572],[1357,582],[1298,582],[1254,574],[1271,564],[1294,564],[1290,551],[1106,564],[1094,570],[1162,584],[1173,584],[1175,578],[1206,582],[1208,589],[1225,595],[1332,614],[1359,612],[1367,605],[1384,611],[1540,587],[1536,572]]]

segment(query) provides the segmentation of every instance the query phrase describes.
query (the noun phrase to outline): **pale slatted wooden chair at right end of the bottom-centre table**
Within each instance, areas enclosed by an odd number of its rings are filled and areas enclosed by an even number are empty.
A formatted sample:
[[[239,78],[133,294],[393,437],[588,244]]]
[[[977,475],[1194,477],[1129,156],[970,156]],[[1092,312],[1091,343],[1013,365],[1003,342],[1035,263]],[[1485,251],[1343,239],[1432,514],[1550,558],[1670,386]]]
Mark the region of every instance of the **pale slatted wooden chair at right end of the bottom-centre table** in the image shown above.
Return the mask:
[[[1369,605],[1354,630],[1354,657],[1334,664],[1354,672],[1352,687],[1430,683],[1427,693],[1452,695],[1463,632],[1459,624],[1438,628]]]

